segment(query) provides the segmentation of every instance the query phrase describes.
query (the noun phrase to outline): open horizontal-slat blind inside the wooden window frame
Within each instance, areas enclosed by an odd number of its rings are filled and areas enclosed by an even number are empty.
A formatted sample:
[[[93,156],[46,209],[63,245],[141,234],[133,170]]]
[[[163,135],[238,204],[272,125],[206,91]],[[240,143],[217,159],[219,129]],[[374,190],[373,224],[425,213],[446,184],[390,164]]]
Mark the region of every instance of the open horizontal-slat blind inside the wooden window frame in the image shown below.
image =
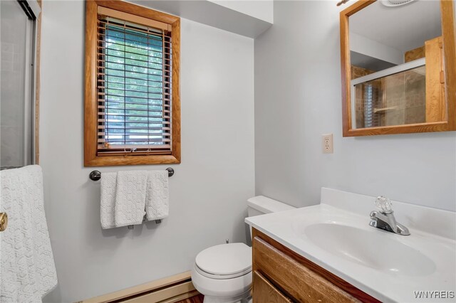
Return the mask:
[[[99,156],[171,154],[170,35],[98,14]]]

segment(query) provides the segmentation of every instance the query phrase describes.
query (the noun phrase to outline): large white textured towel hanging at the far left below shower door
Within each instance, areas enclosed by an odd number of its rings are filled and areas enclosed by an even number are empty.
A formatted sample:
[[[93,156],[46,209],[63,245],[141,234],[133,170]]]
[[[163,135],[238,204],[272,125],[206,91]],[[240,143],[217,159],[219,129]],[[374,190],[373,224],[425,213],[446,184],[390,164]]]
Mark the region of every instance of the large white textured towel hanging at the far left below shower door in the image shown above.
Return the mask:
[[[38,165],[1,171],[0,302],[41,302],[57,285]]]

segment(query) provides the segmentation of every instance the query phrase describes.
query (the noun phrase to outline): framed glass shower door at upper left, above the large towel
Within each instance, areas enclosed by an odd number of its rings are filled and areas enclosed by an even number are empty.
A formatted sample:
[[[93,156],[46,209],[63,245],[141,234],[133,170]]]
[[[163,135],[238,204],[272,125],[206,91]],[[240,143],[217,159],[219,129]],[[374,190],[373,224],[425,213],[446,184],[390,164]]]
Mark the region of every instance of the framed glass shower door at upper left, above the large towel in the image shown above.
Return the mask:
[[[36,7],[34,0],[0,1],[1,169],[35,161]]]

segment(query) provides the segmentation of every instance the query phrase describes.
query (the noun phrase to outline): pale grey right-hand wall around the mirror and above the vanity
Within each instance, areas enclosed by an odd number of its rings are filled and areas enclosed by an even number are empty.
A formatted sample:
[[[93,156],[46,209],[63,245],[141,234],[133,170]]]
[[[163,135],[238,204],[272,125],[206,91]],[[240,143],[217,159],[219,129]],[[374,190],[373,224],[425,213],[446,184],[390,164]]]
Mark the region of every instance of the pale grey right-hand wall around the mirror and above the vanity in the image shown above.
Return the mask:
[[[274,1],[274,26],[255,40],[256,194],[306,206],[326,186],[456,211],[455,132],[342,137],[345,8]],[[325,133],[334,154],[321,153]]]

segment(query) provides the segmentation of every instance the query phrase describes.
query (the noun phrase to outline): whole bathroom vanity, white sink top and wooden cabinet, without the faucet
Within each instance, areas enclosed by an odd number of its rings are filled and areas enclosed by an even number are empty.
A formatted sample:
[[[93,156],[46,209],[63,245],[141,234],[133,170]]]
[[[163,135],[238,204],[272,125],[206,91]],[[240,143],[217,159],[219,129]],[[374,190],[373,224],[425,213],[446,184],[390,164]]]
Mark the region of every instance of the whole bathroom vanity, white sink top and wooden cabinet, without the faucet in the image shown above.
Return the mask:
[[[393,201],[397,235],[369,225],[374,201],[322,188],[316,206],[247,218],[254,302],[454,299],[456,213]]]

